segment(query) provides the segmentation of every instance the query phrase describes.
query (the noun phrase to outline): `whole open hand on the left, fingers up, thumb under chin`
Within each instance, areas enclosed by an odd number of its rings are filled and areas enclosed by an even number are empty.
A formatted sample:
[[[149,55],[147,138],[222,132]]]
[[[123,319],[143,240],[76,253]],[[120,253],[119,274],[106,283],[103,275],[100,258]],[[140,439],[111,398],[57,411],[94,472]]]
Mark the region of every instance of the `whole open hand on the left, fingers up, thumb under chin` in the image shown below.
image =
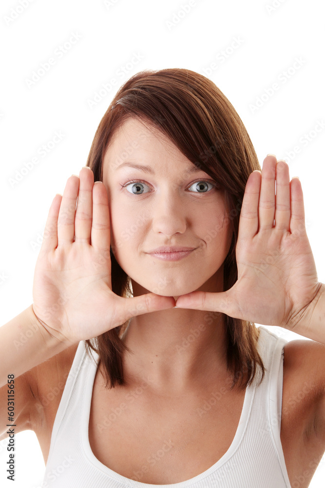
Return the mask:
[[[69,346],[174,305],[173,297],[122,298],[112,291],[105,185],[94,183],[88,167],[68,178],[51,204],[35,268],[33,310],[40,323]]]

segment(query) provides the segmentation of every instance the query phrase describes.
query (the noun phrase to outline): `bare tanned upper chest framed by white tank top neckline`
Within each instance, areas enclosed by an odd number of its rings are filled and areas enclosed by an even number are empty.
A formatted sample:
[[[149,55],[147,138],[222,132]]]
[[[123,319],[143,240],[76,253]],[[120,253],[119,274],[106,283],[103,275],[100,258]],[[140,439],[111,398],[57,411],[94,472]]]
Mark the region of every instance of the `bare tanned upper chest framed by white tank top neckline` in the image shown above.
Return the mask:
[[[214,396],[213,396],[214,393]],[[173,484],[214,465],[229,449],[245,390],[161,397],[141,387],[104,390],[94,383],[89,443],[108,468],[135,481]]]

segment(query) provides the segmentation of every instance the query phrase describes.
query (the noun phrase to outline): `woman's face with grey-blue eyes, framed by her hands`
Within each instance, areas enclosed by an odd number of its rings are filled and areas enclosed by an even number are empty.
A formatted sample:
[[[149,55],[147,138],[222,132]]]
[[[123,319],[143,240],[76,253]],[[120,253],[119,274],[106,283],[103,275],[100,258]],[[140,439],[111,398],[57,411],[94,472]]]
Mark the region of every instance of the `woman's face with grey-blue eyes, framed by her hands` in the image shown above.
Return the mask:
[[[151,291],[178,297],[197,289],[222,291],[231,230],[224,193],[207,173],[161,132],[153,134],[129,119],[106,150],[103,183],[109,198],[112,250],[132,279],[134,295]],[[194,250],[177,261],[149,253],[161,246]]]

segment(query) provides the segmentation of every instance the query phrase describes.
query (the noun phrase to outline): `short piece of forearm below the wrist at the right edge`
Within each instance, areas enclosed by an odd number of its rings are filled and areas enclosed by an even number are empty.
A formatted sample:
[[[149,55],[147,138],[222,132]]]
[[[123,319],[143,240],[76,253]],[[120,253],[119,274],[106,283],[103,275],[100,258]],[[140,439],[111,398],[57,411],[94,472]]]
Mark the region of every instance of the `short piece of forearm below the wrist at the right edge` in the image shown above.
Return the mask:
[[[289,330],[325,344],[325,285],[323,283],[300,320]]]

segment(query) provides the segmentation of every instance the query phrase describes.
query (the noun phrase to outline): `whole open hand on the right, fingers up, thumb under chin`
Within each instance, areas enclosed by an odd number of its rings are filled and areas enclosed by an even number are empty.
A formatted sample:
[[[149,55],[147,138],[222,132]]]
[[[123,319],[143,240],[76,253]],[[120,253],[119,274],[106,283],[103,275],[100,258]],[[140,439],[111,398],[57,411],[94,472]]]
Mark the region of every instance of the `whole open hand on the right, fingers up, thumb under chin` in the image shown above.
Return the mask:
[[[293,329],[322,286],[306,235],[301,183],[298,178],[290,182],[287,163],[277,163],[273,155],[246,183],[236,261],[238,280],[232,288],[194,291],[180,296],[176,306]]]

